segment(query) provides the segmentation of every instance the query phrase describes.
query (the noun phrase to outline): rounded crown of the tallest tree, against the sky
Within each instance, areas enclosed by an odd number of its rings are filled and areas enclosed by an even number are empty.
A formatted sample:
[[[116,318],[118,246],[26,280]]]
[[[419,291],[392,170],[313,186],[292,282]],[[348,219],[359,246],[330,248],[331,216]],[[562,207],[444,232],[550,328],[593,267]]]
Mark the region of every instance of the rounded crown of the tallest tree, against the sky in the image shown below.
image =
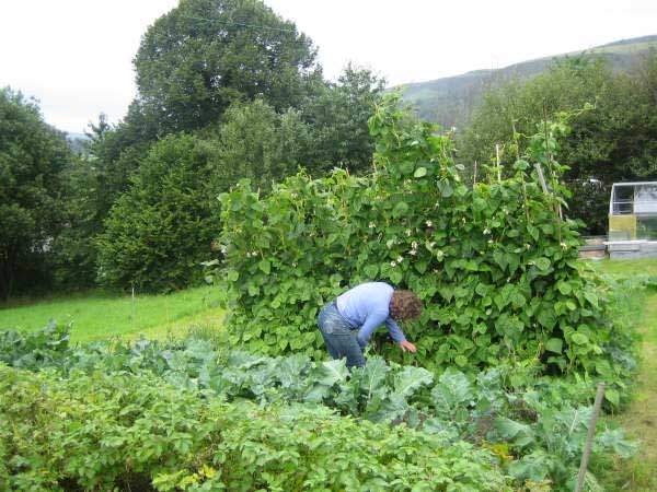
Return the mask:
[[[141,110],[164,132],[218,120],[231,103],[298,106],[321,80],[312,42],[260,0],[182,0],[135,57]]]

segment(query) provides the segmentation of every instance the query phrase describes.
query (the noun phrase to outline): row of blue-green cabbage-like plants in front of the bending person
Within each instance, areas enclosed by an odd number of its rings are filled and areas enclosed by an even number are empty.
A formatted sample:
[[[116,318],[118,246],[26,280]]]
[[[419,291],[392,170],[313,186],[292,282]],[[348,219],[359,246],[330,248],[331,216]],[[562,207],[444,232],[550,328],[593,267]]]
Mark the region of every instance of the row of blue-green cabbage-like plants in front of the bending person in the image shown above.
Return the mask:
[[[0,335],[0,360],[15,367],[55,368],[73,379],[80,371],[155,375],[205,398],[252,400],[261,408],[322,405],[343,415],[423,430],[440,440],[441,447],[462,446],[465,440],[495,453],[506,448],[502,462],[518,483],[549,480],[558,490],[572,489],[595,386],[589,379],[531,378],[521,367],[505,365],[476,377],[449,368],[435,378],[422,367],[388,365],[380,358],[349,373],[344,361],[227,352],[224,342],[215,350],[200,339],[73,348],[67,330],[54,326],[28,337]],[[598,453],[627,457],[634,450],[621,430],[601,424],[597,443]]]

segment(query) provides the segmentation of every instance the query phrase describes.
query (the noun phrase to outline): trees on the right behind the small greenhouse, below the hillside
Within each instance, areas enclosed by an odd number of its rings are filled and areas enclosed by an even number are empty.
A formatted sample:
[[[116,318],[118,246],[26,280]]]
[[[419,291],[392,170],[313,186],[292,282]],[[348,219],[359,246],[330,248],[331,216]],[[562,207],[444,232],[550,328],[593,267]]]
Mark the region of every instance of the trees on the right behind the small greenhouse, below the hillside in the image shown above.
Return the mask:
[[[527,142],[534,121],[593,105],[572,119],[563,139],[562,159],[569,164],[563,178],[573,192],[568,215],[584,220],[590,233],[606,233],[611,185],[649,179],[657,169],[657,51],[637,61],[629,73],[613,73],[601,59],[576,57],[489,91],[460,137],[459,161],[472,174],[474,162],[481,166],[495,159],[499,143],[504,168],[510,169],[515,133]]]

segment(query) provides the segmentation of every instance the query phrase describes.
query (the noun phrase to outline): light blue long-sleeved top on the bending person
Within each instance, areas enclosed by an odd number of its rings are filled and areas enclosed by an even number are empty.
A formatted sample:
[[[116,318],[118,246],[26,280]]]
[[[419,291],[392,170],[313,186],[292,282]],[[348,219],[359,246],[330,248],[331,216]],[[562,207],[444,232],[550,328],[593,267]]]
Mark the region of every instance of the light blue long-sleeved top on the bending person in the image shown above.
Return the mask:
[[[392,339],[406,340],[399,325],[390,317],[390,300],[394,289],[385,282],[367,282],[348,290],[336,300],[337,311],[354,329],[362,350],[379,325],[385,325]]]

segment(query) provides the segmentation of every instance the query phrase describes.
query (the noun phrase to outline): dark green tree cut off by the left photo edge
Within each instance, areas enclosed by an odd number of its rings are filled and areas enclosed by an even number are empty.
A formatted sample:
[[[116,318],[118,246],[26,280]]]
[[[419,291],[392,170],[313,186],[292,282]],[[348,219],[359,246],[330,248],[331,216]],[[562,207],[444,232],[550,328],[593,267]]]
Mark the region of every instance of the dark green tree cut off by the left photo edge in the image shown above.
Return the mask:
[[[71,157],[64,133],[35,102],[0,89],[0,298],[43,284],[60,224],[59,173]]]

